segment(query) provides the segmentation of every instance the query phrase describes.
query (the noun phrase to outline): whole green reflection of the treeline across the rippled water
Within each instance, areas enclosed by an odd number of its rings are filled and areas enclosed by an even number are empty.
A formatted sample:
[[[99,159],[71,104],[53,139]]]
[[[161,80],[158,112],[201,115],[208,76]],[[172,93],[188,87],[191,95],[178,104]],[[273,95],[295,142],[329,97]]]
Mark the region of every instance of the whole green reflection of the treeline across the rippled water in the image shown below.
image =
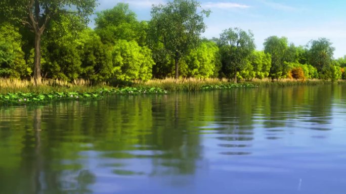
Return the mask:
[[[9,161],[0,161],[6,166],[0,166],[0,192],[89,192],[96,181],[91,171],[83,170],[92,159],[89,151],[99,153],[95,160],[117,175],[193,174],[202,155],[203,130],[218,133],[219,146],[225,150],[221,154],[250,154],[257,126],[274,134],[290,125],[284,121],[302,115],[309,117],[308,122],[328,123],[333,87],[126,95],[31,107],[22,111],[29,116],[16,120],[18,126],[0,118],[1,125],[8,127],[0,128],[1,147],[8,144],[8,152],[17,155],[11,157],[0,149]],[[136,168],[142,162],[149,170]]]

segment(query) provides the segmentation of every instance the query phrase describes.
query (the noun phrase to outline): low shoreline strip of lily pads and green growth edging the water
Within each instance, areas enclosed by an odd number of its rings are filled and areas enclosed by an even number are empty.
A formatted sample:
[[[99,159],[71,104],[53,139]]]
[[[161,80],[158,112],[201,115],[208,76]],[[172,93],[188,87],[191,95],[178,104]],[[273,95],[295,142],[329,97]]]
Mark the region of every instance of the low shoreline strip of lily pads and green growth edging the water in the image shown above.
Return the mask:
[[[11,91],[18,89],[16,92],[6,92],[1,89],[0,92],[0,106],[4,105],[26,105],[36,104],[51,101],[65,101],[65,100],[88,100],[88,99],[101,99],[107,95],[128,95],[128,94],[165,94],[176,91],[205,91],[205,90],[218,90],[218,89],[232,89],[232,88],[257,88],[257,87],[287,87],[295,85],[323,85],[323,84],[346,84],[346,81],[326,81],[326,80],[256,80],[256,81],[243,81],[239,83],[226,82],[225,80],[218,80],[214,82],[201,81],[196,79],[182,79],[180,82],[163,82],[163,80],[152,80],[145,83],[134,83],[134,86],[111,87],[107,85],[100,86],[42,86],[45,89],[40,91],[40,87],[25,88],[25,91],[20,91],[20,88],[11,88]],[[1,88],[1,87],[0,87]],[[9,89],[9,88],[7,88]],[[29,91],[29,92],[28,92]]]

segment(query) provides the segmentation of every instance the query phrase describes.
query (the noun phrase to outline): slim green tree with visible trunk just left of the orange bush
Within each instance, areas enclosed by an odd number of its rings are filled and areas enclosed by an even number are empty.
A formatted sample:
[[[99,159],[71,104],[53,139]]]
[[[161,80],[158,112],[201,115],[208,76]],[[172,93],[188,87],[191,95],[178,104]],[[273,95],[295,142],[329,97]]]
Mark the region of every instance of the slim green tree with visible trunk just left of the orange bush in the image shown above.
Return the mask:
[[[272,66],[269,76],[272,79],[278,79],[286,76],[284,66],[285,54],[288,49],[288,41],[286,37],[270,36],[265,39],[264,52],[272,56]]]

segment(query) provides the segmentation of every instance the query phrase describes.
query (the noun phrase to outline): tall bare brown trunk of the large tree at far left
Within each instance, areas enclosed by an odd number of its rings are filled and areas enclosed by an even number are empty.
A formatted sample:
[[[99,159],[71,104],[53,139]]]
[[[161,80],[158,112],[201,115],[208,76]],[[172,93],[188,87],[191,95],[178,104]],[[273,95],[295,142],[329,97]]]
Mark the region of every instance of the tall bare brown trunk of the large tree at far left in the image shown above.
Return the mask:
[[[41,34],[40,32],[35,33],[34,82],[35,82],[35,85],[41,82]]]

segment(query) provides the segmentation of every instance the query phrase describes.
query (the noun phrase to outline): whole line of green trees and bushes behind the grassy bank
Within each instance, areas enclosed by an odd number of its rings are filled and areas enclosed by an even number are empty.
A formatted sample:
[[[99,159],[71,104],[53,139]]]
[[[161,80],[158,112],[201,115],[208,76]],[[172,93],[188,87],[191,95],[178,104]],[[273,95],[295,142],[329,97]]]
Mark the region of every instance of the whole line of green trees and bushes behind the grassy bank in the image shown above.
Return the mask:
[[[210,11],[198,9],[198,2],[175,0],[153,6],[151,21],[139,21],[127,4],[119,3],[97,13],[95,29],[73,14],[52,15],[41,37],[41,76],[69,81],[346,79],[346,57],[333,59],[334,48],[326,38],[295,46],[286,37],[271,36],[264,51],[256,51],[252,32],[239,28],[226,29],[218,38],[201,38]],[[1,20],[1,77],[33,75],[34,41],[20,22]]]

